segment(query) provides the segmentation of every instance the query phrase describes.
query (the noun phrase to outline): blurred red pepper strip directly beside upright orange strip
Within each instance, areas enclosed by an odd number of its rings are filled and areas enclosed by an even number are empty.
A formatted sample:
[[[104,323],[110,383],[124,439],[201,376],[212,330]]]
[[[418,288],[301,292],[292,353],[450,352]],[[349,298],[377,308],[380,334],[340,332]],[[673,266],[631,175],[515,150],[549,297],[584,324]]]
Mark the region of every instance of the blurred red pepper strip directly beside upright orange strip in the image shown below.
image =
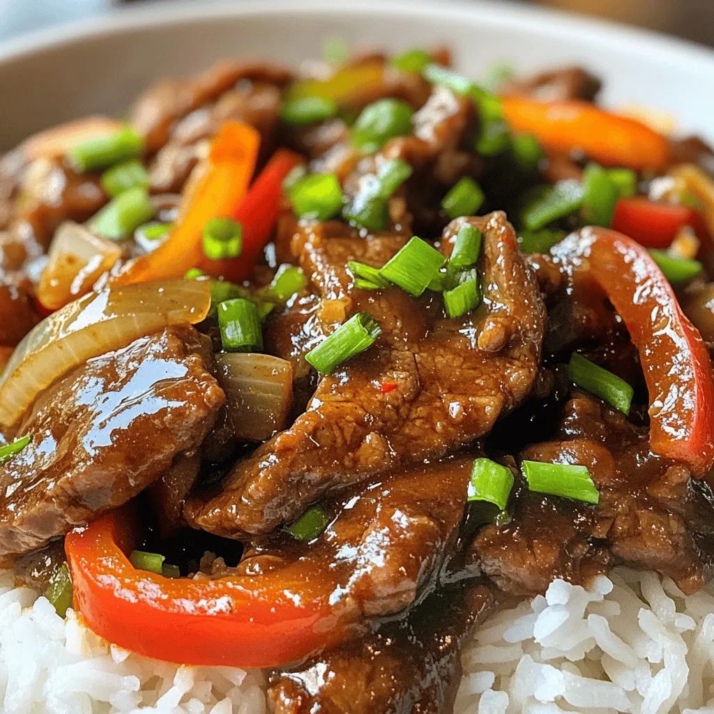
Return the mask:
[[[278,149],[271,156],[246,196],[232,212],[233,218],[243,226],[241,255],[222,261],[211,261],[204,257],[199,265],[206,273],[234,282],[241,282],[250,275],[278,221],[283,179],[302,163],[302,156],[288,149]]]

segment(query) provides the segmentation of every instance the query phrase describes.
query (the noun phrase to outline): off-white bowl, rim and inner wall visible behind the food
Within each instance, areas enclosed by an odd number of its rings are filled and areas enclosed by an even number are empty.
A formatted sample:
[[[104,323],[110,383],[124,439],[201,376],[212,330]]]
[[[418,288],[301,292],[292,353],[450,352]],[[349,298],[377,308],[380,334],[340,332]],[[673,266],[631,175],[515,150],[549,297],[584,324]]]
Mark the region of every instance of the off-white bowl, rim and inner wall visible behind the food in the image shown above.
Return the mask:
[[[326,36],[389,49],[449,44],[478,73],[507,59],[519,69],[587,66],[610,106],[673,113],[681,131],[714,140],[714,52],[645,31],[531,7],[441,0],[252,0],[161,4],[0,45],[0,150],[82,114],[122,114],[155,79],[223,56],[296,62]]]

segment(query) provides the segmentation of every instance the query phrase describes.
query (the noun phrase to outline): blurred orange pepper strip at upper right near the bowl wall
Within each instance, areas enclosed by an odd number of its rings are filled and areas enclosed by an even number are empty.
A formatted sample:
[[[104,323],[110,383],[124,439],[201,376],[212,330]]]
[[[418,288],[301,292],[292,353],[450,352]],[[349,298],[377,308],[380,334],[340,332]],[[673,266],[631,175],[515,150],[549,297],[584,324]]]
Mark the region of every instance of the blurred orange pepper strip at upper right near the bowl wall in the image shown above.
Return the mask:
[[[543,103],[501,97],[506,122],[518,134],[535,136],[545,149],[582,149],[605,166],[663,169],[670,156],[667,139],[636,119],[598,109],[587,101]]]

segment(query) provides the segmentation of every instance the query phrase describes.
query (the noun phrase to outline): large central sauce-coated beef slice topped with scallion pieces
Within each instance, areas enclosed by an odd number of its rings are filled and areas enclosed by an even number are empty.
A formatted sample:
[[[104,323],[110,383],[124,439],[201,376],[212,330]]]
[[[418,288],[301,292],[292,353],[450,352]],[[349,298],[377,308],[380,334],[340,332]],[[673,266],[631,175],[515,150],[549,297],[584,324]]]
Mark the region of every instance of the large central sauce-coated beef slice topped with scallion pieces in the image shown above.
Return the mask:
[[[193,527],[228,537],[267,533],[328,489],[470,443],[528,396],[540,362],[543,303],[506,216],[468,221],[484,233],[484,303],[458,320],[444,318],[433,293],[415,301],[398,288],[353,288],[349,259],[381,266],[406,238],[308,239],[301,265],[321,296],[323,328],[364,310],[383,333],[324,376],[307,411],[236,464],[220,493],[187,502]],[[448,228],[445,251],[466,222]],[[383,383],[394,387],[383,390]]]

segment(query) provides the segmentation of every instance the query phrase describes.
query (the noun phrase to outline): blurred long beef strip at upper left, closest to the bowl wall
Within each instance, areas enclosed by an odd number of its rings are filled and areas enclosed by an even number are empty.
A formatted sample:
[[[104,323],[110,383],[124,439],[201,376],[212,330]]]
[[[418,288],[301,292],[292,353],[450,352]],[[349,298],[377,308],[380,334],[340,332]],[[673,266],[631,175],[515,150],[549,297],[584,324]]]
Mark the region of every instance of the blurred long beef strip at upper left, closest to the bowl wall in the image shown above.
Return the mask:
[[[201,74],[166,79],[146,91],[131,110],[131,123],[154,153],[169,140],[174,121],[218,98],[241,79],[285,86],[291,73],[276,64],[261,61],[223,61]]]

